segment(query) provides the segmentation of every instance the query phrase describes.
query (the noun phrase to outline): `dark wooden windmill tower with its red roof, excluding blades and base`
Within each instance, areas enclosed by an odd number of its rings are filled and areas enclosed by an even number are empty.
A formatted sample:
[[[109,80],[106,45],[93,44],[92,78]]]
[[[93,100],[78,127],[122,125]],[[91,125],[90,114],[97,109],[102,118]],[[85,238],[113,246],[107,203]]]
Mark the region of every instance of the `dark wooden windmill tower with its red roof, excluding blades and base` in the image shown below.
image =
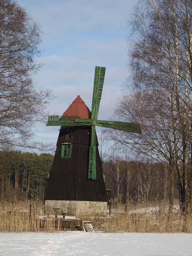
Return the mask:
[[[91,112],[77,96],[63,116],[90,119]],[[90,143],[90,126],[61,126],[45,200],[107,201],[97,139],[96,180],[88,179]]]

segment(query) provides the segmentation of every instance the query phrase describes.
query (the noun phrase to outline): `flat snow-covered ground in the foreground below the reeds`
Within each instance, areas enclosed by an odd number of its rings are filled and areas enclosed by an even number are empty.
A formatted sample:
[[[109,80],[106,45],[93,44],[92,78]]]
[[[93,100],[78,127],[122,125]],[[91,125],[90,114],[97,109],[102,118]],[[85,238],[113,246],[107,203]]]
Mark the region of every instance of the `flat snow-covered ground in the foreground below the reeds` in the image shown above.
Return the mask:
[[[0,256],[192,256],[192,234],[0,233]]]

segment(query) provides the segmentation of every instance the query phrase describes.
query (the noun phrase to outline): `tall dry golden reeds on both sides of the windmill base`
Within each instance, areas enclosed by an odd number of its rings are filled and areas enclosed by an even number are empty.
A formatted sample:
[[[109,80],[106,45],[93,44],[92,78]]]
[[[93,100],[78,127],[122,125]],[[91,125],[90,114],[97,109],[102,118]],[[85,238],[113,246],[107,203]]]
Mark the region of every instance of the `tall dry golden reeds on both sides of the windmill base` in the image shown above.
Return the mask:
[[[30,206],[31,205],[31,206]],[[0,203],[0,232],[54,232],[61,228],[52,218],[42,221],[44,204],[40,201],[18,201],[15,204]],[[178,207],[172,214],[168,213],[168,204],[131,203],[128,212],[125,206],[112,204],[111,216],[105,218],[82,217],[92,221],[96,231],[104,232],[158,232],[158,233],[192,233],[192,215],[181,216]],[[53,214],[50,212],[49,214]]]

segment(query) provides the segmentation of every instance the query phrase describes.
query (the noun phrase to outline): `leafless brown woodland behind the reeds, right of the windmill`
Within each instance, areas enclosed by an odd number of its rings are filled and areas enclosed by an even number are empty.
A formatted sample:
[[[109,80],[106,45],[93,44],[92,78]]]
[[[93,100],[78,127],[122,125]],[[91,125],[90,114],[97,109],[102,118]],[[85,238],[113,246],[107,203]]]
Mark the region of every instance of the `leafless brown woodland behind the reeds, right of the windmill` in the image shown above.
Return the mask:
[[[106,161],[103,169],[106,188],[111,189],[111,197],[119,203],[160,202],[169,198],[169,174],[163,163],[118,158]]]

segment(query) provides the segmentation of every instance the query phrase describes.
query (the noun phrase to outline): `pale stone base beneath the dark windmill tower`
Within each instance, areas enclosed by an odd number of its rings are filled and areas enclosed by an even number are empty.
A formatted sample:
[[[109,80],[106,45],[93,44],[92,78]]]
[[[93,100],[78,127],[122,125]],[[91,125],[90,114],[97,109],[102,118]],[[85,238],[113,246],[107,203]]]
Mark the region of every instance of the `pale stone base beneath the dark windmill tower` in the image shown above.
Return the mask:
[[[59,208],[58,213],[72,216],[106,216],[107,202],[46,200],[45,209]]]

